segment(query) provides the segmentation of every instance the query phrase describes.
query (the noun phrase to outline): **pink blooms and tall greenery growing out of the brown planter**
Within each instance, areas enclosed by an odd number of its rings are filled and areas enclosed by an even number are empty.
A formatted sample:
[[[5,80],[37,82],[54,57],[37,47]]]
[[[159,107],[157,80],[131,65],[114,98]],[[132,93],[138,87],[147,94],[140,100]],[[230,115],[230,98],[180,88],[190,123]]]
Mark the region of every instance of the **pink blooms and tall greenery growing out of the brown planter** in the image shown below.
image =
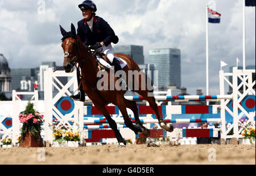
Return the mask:
[[[38,144],[40,143],[41,136],[41,125],[43,125],[43,115],[39,112],[35,112],[34,110],[34,104],[28,100],[27,106],[23,114],[19,114],[19,121],[23,123],[20,137],[24,139],[26,133],[28,133],[31,136],[34,136],[36,138],[36,141]],[[21,140],[22,140],[21,139]]]

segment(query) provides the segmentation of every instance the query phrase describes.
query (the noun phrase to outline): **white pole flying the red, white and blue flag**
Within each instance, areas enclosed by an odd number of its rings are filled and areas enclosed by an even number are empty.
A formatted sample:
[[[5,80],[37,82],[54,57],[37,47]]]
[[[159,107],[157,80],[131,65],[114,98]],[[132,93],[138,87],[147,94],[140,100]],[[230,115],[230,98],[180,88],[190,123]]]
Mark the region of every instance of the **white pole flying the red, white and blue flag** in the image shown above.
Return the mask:
[[[209,95],[209,70],[208,70],[208,60],[209,60],[209,53],[208,53],[208,5],[206,5],[206,83],[207,83],[207,94]],[[207,101],[207,105],[209,102]]]

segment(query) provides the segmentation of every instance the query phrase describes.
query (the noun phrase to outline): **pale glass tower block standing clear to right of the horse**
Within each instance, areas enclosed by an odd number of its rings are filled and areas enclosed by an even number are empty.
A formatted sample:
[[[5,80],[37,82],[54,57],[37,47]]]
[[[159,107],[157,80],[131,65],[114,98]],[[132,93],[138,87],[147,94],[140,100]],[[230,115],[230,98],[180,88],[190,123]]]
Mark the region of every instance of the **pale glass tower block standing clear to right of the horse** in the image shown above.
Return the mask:
[[[149,63],[158,70],[158,87],[168,87],[175,84],[181,87],[180,49],[151,49]]]

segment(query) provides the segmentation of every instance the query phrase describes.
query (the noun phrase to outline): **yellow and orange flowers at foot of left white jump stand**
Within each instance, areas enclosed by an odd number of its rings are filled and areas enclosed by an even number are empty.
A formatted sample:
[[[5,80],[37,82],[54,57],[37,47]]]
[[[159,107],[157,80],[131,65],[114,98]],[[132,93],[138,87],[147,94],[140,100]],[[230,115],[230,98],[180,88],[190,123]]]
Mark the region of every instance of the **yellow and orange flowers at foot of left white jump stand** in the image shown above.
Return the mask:
[[[52,125],[49,125],[49,127],[53,132],[53,141],[56,141],[59,144],[63,143],[64,141],[80,141],[79,124],[73,124],[72,127],[69,127],[67,123],[63,124],[55,119]]]

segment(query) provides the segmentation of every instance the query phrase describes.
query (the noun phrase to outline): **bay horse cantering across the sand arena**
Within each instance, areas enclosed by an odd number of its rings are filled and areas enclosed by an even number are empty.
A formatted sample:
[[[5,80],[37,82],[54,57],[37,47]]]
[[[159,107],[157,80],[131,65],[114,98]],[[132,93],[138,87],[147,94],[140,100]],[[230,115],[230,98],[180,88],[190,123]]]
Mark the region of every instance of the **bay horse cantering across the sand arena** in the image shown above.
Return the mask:
[[[105,106],[107,103],[112,103],[119,108],[119,110],[122,113],[126,127],[130,128],[137,135],[143,134],[145,137],[149,137],[150,131],[147,128],[145,128],[141,121],[139,120],[137,103],[133,100],[127,100],[124,97],[124,94],[126,93],[127,89],[97,89],[96,86],[99,80],[99,78],[97,77],[97,73],[100,71],[100,67],[98,66],[97,59],[94,57],[92,51],[90,51],[90,49],[82,43],[80,37],[76,34],[75,26],[71,24],[70,32],[66,32],[64,28],[60,26],[60,31],[63,35],[63,42],[61,44],[61,47],[64,51],[63,68],[65,72],[73,72],[73,68],[76,66],[76,63],[79,64],[79,67],[81,69],[82,89],[89,97],[89,99],[92,100],[97,110],[99,110],[102,113],[102,115],[105,116],[106,120],[108,120],[109,126],[113,129],[119,146],[126,146],[126,141],[125,139],[123,139],[121,133],[118,131],[117,124],[111,118],[109,112],[106,110]],[[114,56],[122,58],[124,61],[127,62],[127,65],[123,68],[123,72],[125,72],[126,75],[128,75],[129,71],[141,72],[137,63],[130,56],[124,55],[122,53],[115,54]],[[116,83],[118,79],[117,77],[115,77],[114,74],[111,74],[110,71],[110,69],[105,70],[105,73],[107,73],[108,75],[108,80],[113,79]],[[140,74],[140,78],[141,79],[139,79],[139,77],[135,77],[132,80],[131,84],[137,84],[139,87],[138,90],[133,90],[133,87],[129,88],[132,91],[140,94],[144,99],[148,101],[152,110],[155,111],[161,128],[165,129],[168,132],[174,131],[174,127],[172,126],[172,124],[166,124],[166,122],[162,118],[162,115],[159,114],[155,98],[154,96],[152,96],[152,91],[149,91],[147,86],[143,87],[141,82],[144,81],[146,78],[142,74]],[[127,80],[126,78],[125,81],[128,82],[129,80]],[[118,83],[115,85],[118,85]],[[135,125],[130,120],[126,108],[130,108],[130,110],[133,111],[135,117]]]

